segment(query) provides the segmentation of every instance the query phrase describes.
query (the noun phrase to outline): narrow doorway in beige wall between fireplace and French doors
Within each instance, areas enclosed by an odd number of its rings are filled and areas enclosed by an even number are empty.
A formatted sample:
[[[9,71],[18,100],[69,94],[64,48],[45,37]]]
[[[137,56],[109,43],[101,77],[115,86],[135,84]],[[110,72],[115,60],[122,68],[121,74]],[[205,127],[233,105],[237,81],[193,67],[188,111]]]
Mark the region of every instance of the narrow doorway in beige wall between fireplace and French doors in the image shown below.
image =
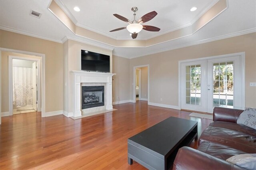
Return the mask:
[[[134,66],[133,101],[149,98],[149,65]]]

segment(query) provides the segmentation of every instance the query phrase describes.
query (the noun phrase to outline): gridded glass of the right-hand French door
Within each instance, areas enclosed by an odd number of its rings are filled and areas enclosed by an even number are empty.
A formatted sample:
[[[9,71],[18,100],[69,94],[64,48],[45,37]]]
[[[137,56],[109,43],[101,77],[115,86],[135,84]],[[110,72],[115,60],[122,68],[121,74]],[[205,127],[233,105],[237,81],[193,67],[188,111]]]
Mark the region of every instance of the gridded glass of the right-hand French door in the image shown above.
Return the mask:
[[[233,106],[233,62],[213,64],[213,106]]]

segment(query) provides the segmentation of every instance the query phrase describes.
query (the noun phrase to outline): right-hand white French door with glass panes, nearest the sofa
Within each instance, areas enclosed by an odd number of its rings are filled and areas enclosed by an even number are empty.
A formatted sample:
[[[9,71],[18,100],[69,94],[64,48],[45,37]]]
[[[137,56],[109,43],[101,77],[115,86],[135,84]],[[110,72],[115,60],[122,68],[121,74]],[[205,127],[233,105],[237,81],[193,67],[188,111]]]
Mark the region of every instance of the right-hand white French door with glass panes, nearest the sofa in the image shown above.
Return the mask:
[[[242,74],[240,57],[207,61],[207,112],[214,107],[242,106]]]

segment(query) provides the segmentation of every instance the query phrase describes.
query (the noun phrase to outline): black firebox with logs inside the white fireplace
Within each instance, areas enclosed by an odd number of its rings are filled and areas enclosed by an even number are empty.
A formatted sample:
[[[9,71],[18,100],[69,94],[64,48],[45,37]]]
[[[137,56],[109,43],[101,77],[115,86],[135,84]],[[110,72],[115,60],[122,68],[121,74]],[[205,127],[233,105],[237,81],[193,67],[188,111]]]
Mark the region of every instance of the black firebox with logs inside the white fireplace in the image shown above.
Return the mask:
[[[104,106],[104,86],[82,86],[82,109]]]

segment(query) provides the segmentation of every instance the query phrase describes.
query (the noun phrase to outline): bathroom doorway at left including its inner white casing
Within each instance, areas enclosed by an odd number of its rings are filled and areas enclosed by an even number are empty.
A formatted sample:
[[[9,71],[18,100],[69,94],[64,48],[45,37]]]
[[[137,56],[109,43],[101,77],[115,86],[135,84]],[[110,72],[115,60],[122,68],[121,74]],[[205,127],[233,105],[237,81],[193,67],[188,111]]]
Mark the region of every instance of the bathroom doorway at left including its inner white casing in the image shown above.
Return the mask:
[[[41,60],[8,56],[9,115],[41,111]]]

